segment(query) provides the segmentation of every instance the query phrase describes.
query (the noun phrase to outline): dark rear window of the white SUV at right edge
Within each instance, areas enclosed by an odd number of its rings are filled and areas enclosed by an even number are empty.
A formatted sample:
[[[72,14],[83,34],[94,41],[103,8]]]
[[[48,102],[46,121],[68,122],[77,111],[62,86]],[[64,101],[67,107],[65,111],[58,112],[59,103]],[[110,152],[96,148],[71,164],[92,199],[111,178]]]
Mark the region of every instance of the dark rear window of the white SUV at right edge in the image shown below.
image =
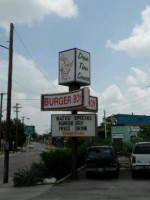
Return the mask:
[[[133,153],[134,154],[150,154],[150,144],[136,145]]]

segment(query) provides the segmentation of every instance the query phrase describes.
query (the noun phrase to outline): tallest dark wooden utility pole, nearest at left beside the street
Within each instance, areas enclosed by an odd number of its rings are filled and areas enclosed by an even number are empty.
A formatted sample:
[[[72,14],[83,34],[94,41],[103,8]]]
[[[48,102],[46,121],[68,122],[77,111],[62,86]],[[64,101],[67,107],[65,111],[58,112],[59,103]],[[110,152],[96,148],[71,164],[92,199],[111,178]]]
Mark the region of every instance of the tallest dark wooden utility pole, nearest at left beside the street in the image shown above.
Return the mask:
[[[8,66],[8,88],[7,88],[7,114],[6,114],[6,134],[4,150],[4,176],[3,183],[8,183],[9,177],[9,135],[11,116],[11,90],[12,90],[12,69],[13,69],[13,23],[10,24],[9,38],[9,66]]]

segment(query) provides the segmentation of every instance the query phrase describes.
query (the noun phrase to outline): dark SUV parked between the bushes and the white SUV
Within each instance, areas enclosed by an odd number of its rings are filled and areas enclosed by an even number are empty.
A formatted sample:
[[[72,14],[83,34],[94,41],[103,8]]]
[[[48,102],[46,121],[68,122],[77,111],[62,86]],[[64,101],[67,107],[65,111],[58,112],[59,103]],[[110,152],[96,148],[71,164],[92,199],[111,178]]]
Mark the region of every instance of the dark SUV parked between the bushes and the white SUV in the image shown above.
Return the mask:
[[[96,173],[113,173],[119,175],[119,162],[112,146],[100,145],[89,147],[86,153],[86,176],[90,178]]]

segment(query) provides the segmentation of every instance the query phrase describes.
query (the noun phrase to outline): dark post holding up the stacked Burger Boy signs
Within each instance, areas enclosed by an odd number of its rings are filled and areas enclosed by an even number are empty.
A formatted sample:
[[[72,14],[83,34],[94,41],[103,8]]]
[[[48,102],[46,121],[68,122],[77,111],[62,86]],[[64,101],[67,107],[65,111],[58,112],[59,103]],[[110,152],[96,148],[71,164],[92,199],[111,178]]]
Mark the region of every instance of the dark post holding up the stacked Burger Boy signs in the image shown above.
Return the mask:
[[[69,91],[80,89],[80,83],[73,83],[69,85]],[[72,115],[77,114],[77,110],[73,110],[71,113]],[[72,137],[71,138],[71,148],[72,148],[72,170],[71,170],[71,177],[73,180],[78,178],[77,173],[77,146],[78,146],[78,138]]]

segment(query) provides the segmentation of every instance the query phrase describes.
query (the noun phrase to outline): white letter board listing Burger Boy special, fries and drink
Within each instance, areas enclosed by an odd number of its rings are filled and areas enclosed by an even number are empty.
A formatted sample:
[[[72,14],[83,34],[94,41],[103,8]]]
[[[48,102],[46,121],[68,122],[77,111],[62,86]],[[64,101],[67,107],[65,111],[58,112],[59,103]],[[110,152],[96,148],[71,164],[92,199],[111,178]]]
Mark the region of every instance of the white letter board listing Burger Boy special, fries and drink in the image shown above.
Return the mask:
[[[53,137],[95,136],[97,116],[95,114],[51,115]]]

